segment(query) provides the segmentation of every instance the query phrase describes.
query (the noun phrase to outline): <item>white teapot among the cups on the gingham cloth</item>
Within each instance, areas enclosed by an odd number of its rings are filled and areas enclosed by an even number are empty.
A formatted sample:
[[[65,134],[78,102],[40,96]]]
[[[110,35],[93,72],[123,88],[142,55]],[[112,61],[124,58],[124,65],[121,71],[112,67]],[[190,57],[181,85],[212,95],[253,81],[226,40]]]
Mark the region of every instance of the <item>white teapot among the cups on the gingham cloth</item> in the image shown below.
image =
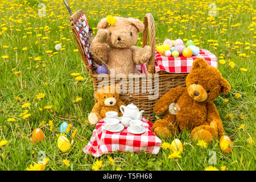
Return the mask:
[[[121,113],[123,115],[129,115],[131,119],[142,119],[142,113],[144,110],[139,111],[138,107],[135,106],[133,103],[127,105],[127,106],[120,106]]]

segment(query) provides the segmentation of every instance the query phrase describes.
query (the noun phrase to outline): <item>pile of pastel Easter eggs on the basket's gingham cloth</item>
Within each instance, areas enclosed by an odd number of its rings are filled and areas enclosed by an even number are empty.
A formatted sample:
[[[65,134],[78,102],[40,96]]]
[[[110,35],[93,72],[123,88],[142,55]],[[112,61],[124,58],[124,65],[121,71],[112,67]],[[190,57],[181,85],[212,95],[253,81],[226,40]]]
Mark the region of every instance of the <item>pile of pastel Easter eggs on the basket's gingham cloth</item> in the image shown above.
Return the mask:
[[[156,51],[166,57],[192,57],[200,53],[199,48],[195,46],[193,40],[187,40],[187,42],[184,43],[181,39],[166,39],[162,45],[156,47]]]

